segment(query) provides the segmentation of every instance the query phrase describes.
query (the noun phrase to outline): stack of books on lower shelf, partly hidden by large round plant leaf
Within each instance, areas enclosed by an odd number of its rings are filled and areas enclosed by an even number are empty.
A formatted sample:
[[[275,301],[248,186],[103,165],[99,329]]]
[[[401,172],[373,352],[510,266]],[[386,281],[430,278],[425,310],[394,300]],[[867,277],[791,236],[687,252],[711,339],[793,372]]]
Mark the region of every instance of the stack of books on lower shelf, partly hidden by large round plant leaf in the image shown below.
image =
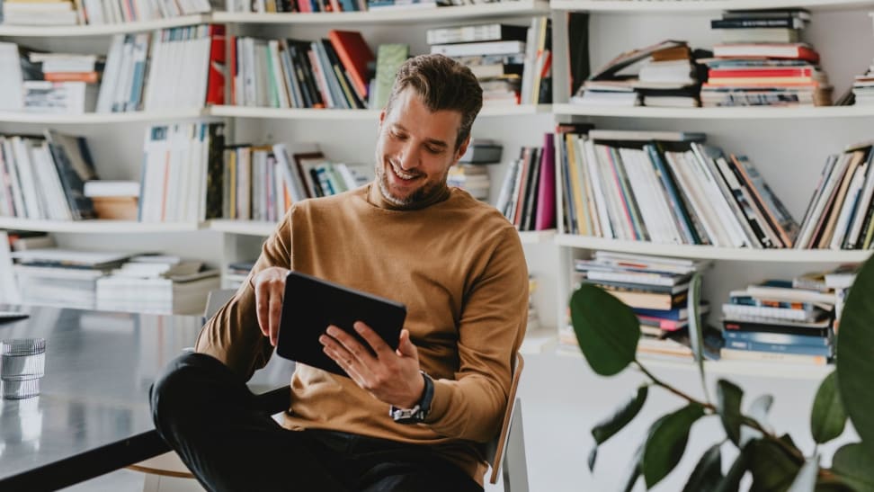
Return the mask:
[[[689,284],[691,276],[707,266],[708,262],[683,258],[596,251],[592,259],[575,261],[574,278],[577,283],[601,287],[634,310],[641,331],[638,354],[691,360]],[[720,337],[714,330],[704,329],[708,311],[709,304],[702,301],[699,314],[704,354],[718,359]]]

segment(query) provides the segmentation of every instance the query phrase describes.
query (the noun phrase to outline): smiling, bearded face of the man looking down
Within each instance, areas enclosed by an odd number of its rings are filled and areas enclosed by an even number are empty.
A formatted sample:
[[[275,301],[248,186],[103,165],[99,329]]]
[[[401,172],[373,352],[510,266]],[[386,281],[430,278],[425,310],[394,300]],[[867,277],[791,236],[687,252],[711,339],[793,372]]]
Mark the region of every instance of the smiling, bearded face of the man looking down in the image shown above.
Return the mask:
[[[415,206],[446,188],[446,176],[468,147],[455,150],[457,111],[431,112],[413,88],[397,94],[391,112],[379,115],[376,180],[397,207]]]

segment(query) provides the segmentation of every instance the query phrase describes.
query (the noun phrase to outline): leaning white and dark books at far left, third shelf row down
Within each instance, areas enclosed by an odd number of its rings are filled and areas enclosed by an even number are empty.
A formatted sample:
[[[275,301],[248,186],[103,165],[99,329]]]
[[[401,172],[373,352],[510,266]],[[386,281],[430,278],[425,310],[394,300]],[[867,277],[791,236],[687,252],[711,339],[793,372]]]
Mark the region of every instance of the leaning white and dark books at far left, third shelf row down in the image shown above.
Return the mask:
[[[84,138],[45,130],[41,137],[0,136],[0,216],[94,219],[84,181],[96,179]]]

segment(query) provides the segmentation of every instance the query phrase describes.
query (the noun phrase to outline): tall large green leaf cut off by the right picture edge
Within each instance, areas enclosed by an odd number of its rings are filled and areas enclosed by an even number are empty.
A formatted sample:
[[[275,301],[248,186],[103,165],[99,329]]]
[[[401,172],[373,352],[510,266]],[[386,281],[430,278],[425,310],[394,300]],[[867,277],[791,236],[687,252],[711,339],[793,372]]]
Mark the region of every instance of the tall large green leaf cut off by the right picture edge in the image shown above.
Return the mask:
[[[874,261],[861,267],[843,309],[837,341],[838,388],[843,407],[874,456]]]

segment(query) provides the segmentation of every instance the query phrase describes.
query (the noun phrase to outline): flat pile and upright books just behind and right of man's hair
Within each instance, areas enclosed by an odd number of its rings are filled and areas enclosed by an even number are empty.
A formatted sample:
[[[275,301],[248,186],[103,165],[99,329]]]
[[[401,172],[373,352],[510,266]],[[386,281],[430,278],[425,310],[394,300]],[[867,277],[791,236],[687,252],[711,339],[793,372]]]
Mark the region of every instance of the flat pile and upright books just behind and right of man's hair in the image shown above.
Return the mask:
[[[426,31],[432,53],[454,58],[477,76],[483,105],[545,103],[552,55],[549,22],[535,17],[531,26],[488,23]]]

